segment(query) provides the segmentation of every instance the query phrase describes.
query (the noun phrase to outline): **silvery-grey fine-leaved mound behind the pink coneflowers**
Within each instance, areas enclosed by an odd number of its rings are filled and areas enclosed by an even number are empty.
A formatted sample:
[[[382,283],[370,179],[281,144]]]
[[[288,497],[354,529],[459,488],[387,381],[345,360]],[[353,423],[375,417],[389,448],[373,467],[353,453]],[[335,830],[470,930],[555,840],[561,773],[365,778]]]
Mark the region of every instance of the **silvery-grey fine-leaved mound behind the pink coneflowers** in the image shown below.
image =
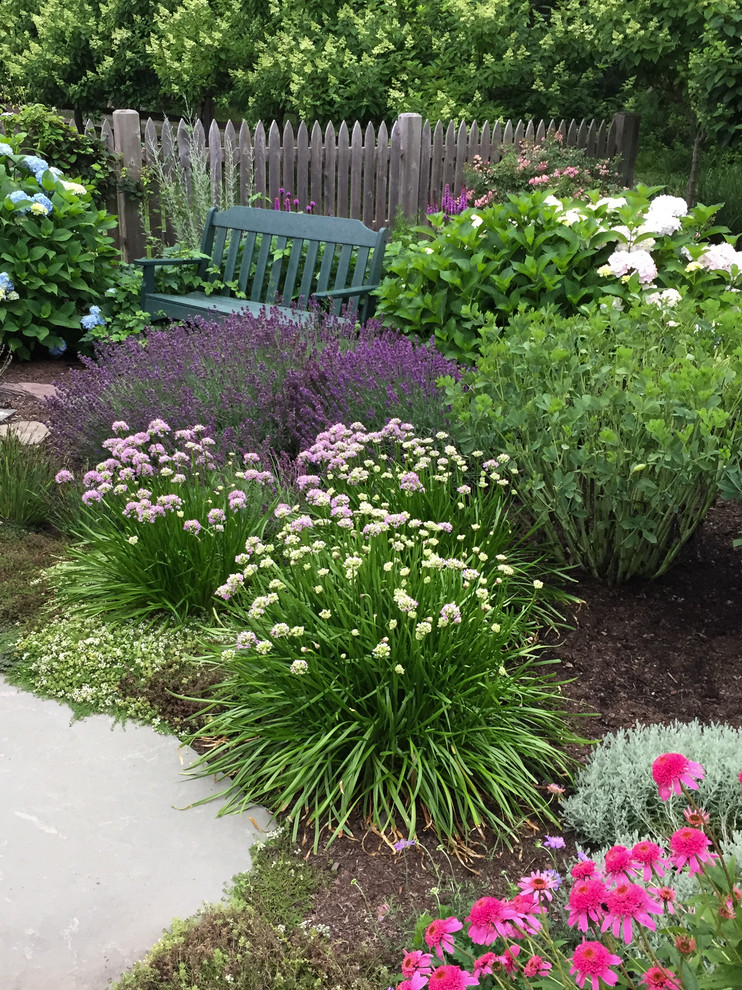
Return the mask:
[[[734,841],[742,829],[739,758],[742,732],[716,722],[640,725],[605,736],[575,776],[574,793],[562,802],[565,822],[592,849],[610,846],[632,833],[657,840],[687,825],[682,798],[662,801],[651,766],[662,753],[683,753],[700,763],[698,804],[710,827]]]

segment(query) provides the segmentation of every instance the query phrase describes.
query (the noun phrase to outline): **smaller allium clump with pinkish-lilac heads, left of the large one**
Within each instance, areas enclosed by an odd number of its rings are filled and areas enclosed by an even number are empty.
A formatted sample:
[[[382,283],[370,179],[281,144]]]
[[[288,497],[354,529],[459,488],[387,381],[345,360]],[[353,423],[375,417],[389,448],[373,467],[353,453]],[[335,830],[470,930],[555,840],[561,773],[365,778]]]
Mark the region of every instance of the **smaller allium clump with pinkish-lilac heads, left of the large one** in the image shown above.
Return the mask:
[[[82,478],[78,543],[53,579],[80,615],[131,620],[165,613],[182,622],[219,604],[214,588],[250,536],[261,535],[275,479],[257,454],[217,466],[202,424],[171,430],[162,419],[131,433],[117,421],[108,457]],[[66,469],[56,481],[66,487]]]

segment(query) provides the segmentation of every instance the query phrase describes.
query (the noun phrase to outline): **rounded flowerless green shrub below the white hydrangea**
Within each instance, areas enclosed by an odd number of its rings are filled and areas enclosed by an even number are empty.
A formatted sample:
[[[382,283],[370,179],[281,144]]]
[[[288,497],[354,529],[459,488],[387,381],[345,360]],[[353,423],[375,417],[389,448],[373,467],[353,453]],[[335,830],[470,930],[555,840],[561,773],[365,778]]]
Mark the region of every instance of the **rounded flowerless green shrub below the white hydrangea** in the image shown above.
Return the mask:
[[[705,313],[521,313],[449,387],[468,443],[515,459],[554,552],[609,584],[667,570],[739,446],[738,314]]]

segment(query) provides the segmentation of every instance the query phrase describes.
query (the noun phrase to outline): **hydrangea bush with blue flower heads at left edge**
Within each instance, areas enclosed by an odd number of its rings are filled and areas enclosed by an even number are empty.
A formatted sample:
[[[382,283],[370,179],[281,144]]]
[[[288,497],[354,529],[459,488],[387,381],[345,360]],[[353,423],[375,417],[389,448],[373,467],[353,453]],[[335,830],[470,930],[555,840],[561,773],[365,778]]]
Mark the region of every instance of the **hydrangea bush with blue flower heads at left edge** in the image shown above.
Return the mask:
[[[0,343],[20,358],[75,345],[80,318],[105,292],[115,217],[43,158],[0,142]]]

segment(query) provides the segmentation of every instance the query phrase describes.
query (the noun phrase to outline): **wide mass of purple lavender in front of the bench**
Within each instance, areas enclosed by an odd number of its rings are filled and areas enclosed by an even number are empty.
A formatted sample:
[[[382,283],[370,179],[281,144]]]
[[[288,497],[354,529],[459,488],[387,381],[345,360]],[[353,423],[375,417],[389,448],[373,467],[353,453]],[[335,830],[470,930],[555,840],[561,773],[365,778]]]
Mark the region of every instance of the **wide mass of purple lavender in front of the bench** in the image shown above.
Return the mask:
[[[101,346],[49,401],[51,441],[69,463],[93,463],[117,419],[203,423],[217,459],[230,450],[295,457],[335,422],[369,427],[394,417],[445,424],[442,375],[453,363],[434,348],[377,324],[317,316],[310,326],[273,309],[223,324],[194,321]]]

